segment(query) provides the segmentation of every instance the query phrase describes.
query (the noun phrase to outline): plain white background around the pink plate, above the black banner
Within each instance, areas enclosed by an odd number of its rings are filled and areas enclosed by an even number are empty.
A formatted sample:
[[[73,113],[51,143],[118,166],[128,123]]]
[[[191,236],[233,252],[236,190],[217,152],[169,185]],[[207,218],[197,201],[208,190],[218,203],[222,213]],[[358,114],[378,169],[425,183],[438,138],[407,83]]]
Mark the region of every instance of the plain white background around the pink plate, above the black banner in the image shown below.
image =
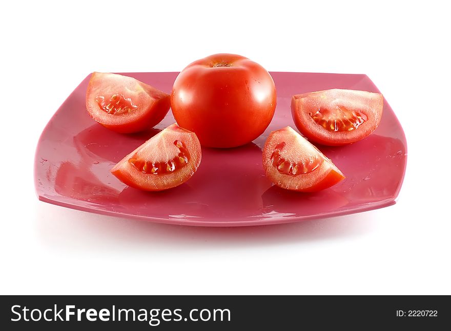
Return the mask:
[[[2,5],[0,294],[451,294],[451,25],[441,3]],[[168,226],[38,202],[38,137],[90,72],[219,52],[269,71],[367,74],[408,162],[395,206],[289,225]]]

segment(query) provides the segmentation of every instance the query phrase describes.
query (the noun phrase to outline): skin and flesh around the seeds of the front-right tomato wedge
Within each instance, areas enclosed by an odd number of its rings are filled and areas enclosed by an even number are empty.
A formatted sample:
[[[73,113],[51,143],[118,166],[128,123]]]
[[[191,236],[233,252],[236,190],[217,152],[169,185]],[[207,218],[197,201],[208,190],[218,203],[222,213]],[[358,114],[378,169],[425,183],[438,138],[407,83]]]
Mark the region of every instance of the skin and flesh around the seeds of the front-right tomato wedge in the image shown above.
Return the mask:
[[[285,139],[286,138],[286,139]],[[272,165],[271,155],[274,147],[283,141],[299,140],[300,144],[290,144],[290,154],[293,156],[302,155],[303,147],[307,147],[311,151],[306,155],[318,155],[323,158],[322,164],[315,170],[307,174],[299,174],[292,176],[277,171]],[[313,150],[313,153],[312,153]],[[291,160],[299,161],[299,160]],[[342,181],[345,176],[343,173],[327,159],[321,151],[319,151],[310,142],[305,140],[291,127],[285,127],[277,131],[272,131],[263,147],[263,169],[267,177],[277,186],[297,192],[318,192],[334,186]]]

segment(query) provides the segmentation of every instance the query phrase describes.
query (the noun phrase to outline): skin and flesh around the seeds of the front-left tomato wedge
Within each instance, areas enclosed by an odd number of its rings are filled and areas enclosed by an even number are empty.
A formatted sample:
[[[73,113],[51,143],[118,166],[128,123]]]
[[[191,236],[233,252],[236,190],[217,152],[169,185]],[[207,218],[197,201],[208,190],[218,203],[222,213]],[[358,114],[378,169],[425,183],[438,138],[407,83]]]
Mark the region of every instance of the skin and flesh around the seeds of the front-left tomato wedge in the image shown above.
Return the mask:
[[[162,136],[169,136],[170,138],[168,138],[168,140],[163,140]],[[143,173],[130,164],[129,160],[135,153],[146,148],[146,146],[152,146],[152,143],[158,139],[161,140],[161,143],[155,146],[154,149],[156,151],[161,151],[164,149],[165,145],[171,145],[173,140],[183,141],[190,152],[191,160],[180,170],[164,175]],[[154,156],[148,155],[147,157],[149,160],[146,161],[152,161],[151,159]],[[180,128],[176,124],[172,124],[129,153],[129,155],[120,160],[110,172],[115,175],[118,180],[128,186],[145,191],[162,191],[187,182],[197,171],[201,158],[201,147],[196,135],[186,129]]]

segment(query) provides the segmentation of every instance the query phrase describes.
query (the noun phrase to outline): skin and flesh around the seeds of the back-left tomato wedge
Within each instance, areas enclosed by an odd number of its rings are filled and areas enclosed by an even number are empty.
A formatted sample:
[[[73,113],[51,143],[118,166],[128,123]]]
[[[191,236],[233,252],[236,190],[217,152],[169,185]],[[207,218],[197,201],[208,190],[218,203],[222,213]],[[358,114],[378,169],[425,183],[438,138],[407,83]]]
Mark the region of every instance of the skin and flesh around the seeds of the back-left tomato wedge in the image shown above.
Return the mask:
[[[119,79],[117,76],[121,76],[126,81],[123,86],[117,85],[116,93],[121,94],[121,91],[125,90],[124,86],[130,84],[135,84],[136,89],[139,91],[136,95],[130,95],[127,92],[124,93],[126,98],[130,97],[137,102],[138,109],[133,111],[135,112],[135,114],[132,114],[133,116],[125,117],[107,114],[100,109],[95,101],[96,96],[101,94],[101,91],[98,90],[99,84],[101,84],[100,82],[104,80],[104,84],[108,84],[107,79],[114,77],[117,84],[117,80]],[[89,115],[99,124],[118,133],[130,134],[148,130],[165,118],[170,107],[171,97],[169,94],[159,91],[155,87],[132,77],[94,72],[88,84],[86,108]]]

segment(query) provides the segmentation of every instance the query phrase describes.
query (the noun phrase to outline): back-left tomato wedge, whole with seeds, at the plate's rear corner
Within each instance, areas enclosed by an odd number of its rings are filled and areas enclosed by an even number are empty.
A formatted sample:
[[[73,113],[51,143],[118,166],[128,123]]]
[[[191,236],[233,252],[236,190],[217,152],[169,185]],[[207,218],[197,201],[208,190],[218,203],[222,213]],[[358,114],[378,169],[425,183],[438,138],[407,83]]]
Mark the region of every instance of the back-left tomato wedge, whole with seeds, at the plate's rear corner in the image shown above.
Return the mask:
[[[171,98],[139,80],[108,73],[93,73],[86,92],[89,115],[119,132],[150,129],[166,116]]]

